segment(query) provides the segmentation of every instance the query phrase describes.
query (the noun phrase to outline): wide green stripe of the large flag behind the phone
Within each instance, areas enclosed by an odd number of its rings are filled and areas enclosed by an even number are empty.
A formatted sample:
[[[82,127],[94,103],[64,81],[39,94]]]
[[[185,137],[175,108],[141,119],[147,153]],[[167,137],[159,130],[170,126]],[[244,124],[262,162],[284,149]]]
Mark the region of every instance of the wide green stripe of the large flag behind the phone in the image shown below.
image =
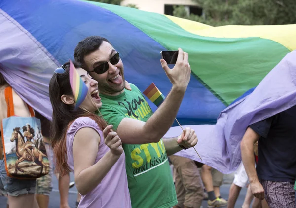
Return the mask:
[[[90,3],[124,18],[168,50],[181,47],[189,54],[193,76],[225,105],[257,86],[290,52],[280,43],[268,39],[203,37],[185,31],[165,15]]]

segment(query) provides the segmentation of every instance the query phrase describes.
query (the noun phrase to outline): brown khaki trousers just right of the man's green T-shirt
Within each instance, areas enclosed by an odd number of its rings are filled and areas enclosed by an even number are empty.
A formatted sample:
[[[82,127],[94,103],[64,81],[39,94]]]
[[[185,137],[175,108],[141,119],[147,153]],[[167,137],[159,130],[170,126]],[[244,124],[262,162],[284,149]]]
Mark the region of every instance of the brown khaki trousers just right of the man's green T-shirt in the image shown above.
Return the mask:
[[[169,157],[175,168],[175,186],[180,208],[200,208],[203,201],[203,185],[195,162],[188,158]]]

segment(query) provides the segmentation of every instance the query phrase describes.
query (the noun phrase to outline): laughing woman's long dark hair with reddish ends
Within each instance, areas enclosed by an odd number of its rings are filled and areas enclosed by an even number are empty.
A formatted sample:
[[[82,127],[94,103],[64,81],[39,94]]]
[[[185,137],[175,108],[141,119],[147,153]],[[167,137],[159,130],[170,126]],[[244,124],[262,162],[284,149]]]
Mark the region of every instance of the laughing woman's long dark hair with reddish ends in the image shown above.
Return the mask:
[[[73,63],[79,68],[77,63]],[[49,98],[52,105],[52,121],[50,125],[50,136],[56,159],[56,172],[61,176],[70,172],[67,164],[66,134],[71,123],[79,117],[90,117],[103,130],[106,125],[103,120],[81,108],[74,109],[74,105],[62,102],[62,95],[73,95],[69,79],[69,62],[64,65],[63,74],[54,74],[49,83]]]

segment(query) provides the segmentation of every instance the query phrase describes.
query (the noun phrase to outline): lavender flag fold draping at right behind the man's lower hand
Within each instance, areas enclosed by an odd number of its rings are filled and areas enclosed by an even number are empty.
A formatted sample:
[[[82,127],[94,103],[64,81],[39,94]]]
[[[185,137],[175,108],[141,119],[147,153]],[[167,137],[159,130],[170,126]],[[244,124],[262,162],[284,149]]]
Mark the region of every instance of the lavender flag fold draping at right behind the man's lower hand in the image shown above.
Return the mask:
[[[247,127],[296,105],[296,50],[288,53],[245,98],[223,110],[216,125],[191,125],[199,139],[196,150],[175,155],[205,163],[222,173],[231,173],[241,162],[240,142]],[[184,128],[186,126],[183,126]],[[181,134],[172,127],[165,137]]]

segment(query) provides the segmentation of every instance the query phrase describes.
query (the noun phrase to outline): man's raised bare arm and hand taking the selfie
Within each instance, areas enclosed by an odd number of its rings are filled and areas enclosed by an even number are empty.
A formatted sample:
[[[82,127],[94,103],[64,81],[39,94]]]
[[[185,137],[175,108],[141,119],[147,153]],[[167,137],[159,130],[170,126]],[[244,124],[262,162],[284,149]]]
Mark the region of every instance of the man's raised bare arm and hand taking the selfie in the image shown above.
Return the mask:
[[[143,144],[158,142],[172,126],[177,116],[179,107],[190,81],[191,68],[188,62],[188,54],[179,48],[176,65],[170,69],[161,59],[161,65],[166,75],[173,84],[171,91],[147,120],[147,122],[137,119],[124,118],[117,128],[117,134],[125,144]]]

